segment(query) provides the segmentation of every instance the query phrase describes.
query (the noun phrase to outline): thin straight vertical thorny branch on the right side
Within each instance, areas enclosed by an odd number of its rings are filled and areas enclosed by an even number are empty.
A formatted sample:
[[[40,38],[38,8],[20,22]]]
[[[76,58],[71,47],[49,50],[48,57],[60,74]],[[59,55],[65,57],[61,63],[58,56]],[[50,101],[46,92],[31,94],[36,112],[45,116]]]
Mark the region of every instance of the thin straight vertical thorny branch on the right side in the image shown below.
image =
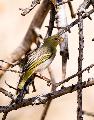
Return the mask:
[[[78,11],[78,29],[79,29],[79,56],[78,56],[78,72],[82,70],[82,61],[83,61],[83,48],[84,48],[84,37],[83,37],[83,19],[82,12]],[[77,90],[77,120],[83,120],[82,117],[82,73],[78,75],[78,85],[79,89]]]

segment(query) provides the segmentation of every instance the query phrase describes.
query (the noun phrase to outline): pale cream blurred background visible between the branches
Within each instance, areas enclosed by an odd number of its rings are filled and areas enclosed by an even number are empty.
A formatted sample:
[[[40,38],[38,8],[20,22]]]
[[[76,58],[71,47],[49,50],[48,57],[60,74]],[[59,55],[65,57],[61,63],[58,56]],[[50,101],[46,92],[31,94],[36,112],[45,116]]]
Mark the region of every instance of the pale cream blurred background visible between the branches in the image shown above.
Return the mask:
[[[82,0],[74,0],[72,2],[74,11],[76,12],[78,6]],[[31,4],[31,0],[0,0],[0,59],[5,59],[11,52],[20,44],[23,40],[25,33],[29,27],[29,24],[35,14],[39,5],[33,9],[28,15],[21,16],[19,8],[26,8]],[[89,7],[91,9],[92,7]],[[71,19],[68,5],[65,5],[68,24],[74,19]],[[83,68],[94,63],[94,14],[91,15],[92,21],[88,18],[84,20],[84,60]],[[41,29],[42,35],[45,36],[48,25],[49,14],[44,21]],[[68,33],[69,38],[69,60],[67,63],[67,75],[66,77],[77,72],[78,68],[78,27],[77,25],[71,29],[71,33]],[[62,80],[61,74],[61,56],[59,55],[59,46],[57,47],[58,52],[55,60],[52,63],[54,68],[56,82]],[[57,71],[58,70],[58,71]],[[58,72],[58,74],[57,74]],[[45,70],[43,74],[49,78],[48,71]],[[90,73],[85,72],[83,74],[83,81],[86,81],[88,77],[94,77],[94,69],[90,70]],[[0,86],[15,94],[13,89],[10,89],[6,84],[16,87],[19,81],[18,74],[6,72],[5,75],[0,79]],[[72,79],[70,82],[64,84],[69,86],[71,83],[76,83],[77,78]],[[26,97],[32,97],[35,95],[41,95],[50,92],[51,87],[47,86],[47,83],[38,78],[35,79],[35,85],[37,92],[32,93],[32,86],[30,86],[30,94]],[[0,93],[0,105],[7,105],[10,99]],[[44,105],[39,106],[27,106],[25,108],[12,111],[8,114],[6,120],[40,120]],[[83,90],[83,110],[94,113],[94,86]],[[77,111],[77,93],[67,94],[59,97],[52,101],[49,111],[45,120],[76,120]],[[0,120],[3,114],[0,114]],[[92,117],[83,116],[84,120],[94,120]]]

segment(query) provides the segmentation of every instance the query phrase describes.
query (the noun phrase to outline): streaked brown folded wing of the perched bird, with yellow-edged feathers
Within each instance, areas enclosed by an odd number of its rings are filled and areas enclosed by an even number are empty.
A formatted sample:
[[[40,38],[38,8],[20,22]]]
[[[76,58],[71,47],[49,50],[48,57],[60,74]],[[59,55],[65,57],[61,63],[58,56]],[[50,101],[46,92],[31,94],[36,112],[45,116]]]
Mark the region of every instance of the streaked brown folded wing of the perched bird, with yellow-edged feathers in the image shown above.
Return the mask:
[[[49,59],[52,56],[52,53],[49,49],[46,49],[46,47],[41,47],[33,51],[28,56],[28,61],[24,65],[24,71],[36,68],[41,63],[45,62],[47,59]]]

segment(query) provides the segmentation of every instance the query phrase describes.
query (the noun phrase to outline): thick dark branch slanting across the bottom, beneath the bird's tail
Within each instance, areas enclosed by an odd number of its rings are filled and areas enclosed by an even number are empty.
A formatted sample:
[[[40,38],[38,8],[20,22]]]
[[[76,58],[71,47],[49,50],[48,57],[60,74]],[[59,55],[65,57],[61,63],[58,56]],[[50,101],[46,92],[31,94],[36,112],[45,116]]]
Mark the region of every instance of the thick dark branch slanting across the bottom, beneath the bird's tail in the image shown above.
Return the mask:
[[[82,88],[87,88],[94,85],[94,80],[92,81],[85,81],[82,82]],[[12,110],[17,110],[19,108],[25,107],[25,106],[29,106],[29,105],[40,105],[40,104],[45,104],[49,99],[55,99],[58,98],[62,95],[68,94],[68,93],[72,93],[76,90],[79,89],[79,85],[75,84],[69,87],[63,87],[63,89],[52,92],[52,93],[48,93],[46,95],[42,95],[42,96],[36,96],[33,98],[29,98],[29,99],[23,99],[23,101],[21,103],[18,104],[12,104],[9,106],[0,106],[0,113],[2,112],[10,112]]]

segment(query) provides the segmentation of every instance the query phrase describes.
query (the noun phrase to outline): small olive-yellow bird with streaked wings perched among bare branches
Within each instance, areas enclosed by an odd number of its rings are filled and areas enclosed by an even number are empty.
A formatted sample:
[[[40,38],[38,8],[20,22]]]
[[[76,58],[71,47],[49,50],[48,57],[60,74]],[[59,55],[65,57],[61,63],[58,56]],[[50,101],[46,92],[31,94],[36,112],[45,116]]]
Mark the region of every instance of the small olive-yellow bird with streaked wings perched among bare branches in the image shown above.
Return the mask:
[[[56,55],[57,45],[63,41],[59,34],[48,37],[41,47],[27,54],[26,63],[23,66],[23,74],[17,87],[17,99],[23,98],[28,93],[27,87],[33,82],[34,75],[47,68]]]

